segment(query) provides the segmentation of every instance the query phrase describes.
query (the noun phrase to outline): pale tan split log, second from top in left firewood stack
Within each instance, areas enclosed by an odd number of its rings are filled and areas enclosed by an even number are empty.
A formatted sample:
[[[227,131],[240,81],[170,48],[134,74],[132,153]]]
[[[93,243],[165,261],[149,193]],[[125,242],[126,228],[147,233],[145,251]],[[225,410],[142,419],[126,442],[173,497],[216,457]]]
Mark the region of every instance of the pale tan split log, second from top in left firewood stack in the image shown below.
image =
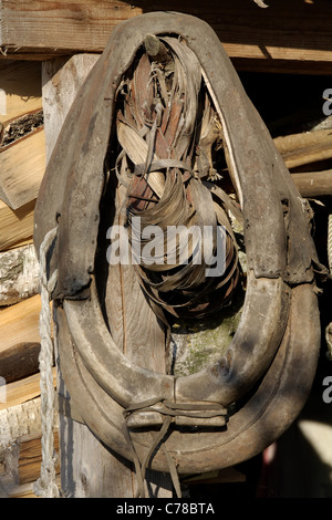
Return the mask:
[[[45,170],[43,128],[0,149],[0,198],[12,209],[34,200]]]

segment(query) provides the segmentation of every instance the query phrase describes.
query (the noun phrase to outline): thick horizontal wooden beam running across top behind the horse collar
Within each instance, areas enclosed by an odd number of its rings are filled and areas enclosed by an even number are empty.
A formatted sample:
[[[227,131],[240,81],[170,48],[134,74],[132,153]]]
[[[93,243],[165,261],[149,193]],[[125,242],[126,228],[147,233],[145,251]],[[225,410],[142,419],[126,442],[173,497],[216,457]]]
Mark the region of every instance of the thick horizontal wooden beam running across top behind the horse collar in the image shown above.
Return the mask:
[[[329,0],[289,2],[279,0],[260,9],[252,0],[198,0],[170,2],[147,0],[131,6],[124,1],[2,0],[0,45],[10,58],[14,52],[101,52],[112,29],[121,21],[149,11],[180,11],[206,20],[231,58],[250,66],[252,60],[267,67],[278,63],[317,65],[315,73],[332,61]],[[256,64],[257,66],[257,64]],[[252,69],[251,69],[252,70]],[[331,74],[331,71],[330,71]]]

